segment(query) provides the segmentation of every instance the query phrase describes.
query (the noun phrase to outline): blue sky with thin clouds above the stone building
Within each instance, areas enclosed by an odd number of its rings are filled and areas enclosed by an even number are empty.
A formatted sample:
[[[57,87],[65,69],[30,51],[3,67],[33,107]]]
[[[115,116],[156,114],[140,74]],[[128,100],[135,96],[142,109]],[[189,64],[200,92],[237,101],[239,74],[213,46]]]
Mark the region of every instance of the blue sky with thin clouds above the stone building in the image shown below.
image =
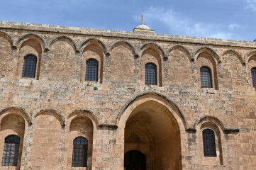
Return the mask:
[[[231,40],[256,39],[256,0],[0,0],[0,20]]]

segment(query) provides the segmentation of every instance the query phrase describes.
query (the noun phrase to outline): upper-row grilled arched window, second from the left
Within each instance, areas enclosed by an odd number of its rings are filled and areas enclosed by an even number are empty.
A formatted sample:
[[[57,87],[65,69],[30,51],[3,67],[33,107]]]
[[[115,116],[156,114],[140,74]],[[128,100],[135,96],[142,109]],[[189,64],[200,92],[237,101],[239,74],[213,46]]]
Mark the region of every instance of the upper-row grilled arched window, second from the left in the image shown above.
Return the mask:
[[[98,65],[99,63],[96,60],[87,60],[85,80],[98,81]]]

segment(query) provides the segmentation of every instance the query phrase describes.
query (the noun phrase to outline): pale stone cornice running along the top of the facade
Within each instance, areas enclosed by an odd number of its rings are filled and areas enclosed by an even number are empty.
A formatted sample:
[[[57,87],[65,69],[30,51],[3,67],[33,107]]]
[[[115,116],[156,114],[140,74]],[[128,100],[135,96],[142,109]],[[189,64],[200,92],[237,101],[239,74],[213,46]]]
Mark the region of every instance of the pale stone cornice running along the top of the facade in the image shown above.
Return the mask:
[[[116,37],[123,39],[141,39],[141,40],[155,40],[164,42],[177,42],[177,43],[194,43],[201,45],[219,45],[229,47],[247,47],[256,48],[255,41],[242,41],[242,40],[225,40],[217,38],[198,38],[182,35],[165,35],[165,34],[149,34],[149,33],[134,33],[123,30],[101,30],[94,28],[78,28],[68,26],[51,26],[46,24],[34,23],[18,23],[10,21],[0,21],[0,28],[2,29],[16,29],[16,30],[30,30],[42,31],[52,33],[64,34],[78,34],[78,35],[94,35],[104,37]]]

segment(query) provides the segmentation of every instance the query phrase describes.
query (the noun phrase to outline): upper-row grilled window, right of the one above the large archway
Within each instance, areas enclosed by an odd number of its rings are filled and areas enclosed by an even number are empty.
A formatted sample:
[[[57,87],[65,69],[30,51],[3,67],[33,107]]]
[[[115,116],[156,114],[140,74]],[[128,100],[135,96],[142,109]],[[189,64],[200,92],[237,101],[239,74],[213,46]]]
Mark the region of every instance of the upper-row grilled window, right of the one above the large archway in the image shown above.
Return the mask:
[[[212,88],[213,83],[211,81],[211,69],[209,69],[208,67],[201,67],[200,74],[201,74],[201,87]]]

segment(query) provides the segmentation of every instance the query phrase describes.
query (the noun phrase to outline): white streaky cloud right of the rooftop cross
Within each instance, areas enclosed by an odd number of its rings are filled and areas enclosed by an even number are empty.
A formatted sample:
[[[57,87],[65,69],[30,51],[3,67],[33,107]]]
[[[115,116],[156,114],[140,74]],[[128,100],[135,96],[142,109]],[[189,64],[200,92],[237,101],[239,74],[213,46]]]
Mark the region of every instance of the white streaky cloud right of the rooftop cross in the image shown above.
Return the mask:
[[[150,7],[145,12],[145,16],[149,19],[158,20],[169,28],[170,34],[189,35],[207,38],[234,39],[233,34],[221,30],[221,25],[215,23],[196,23],[191,18],[181,16],[170,8],[165,10],[162,7]],[[238,25],[230,24],[231,28],[237,28]]]

